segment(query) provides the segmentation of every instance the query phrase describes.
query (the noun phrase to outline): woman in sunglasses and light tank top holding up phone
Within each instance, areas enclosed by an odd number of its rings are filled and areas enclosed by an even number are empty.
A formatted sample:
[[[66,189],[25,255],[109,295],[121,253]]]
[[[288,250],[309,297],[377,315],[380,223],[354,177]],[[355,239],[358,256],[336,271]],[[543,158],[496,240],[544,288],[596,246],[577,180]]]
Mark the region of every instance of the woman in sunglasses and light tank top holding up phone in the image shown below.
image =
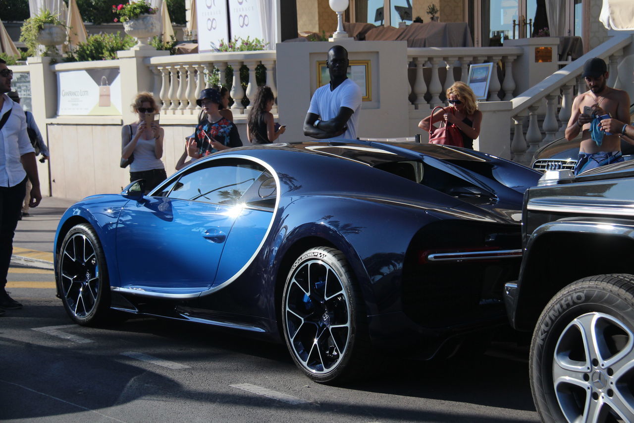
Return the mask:
[[[133,158],[130,163],[130,182],[145,179],[145,191],[152,191],[167,178],[163,156],[165,131],[154,115],[159,106],[152,93],[138,93],[132,104],[138,120],[124,125],[121,130],[121,159]]]

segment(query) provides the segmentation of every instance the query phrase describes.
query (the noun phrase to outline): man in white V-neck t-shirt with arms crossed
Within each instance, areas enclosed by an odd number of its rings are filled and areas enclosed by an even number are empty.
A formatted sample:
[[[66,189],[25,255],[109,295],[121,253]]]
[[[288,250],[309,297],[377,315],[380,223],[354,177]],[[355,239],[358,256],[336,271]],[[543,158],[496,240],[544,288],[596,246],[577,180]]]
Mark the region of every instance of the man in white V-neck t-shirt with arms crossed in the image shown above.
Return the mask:
[[[304,119],[304,135],[318,139],[356,139],[361,109],[361,88],[347,77],[348,51],[328,50],[330,84],[317,88]]]

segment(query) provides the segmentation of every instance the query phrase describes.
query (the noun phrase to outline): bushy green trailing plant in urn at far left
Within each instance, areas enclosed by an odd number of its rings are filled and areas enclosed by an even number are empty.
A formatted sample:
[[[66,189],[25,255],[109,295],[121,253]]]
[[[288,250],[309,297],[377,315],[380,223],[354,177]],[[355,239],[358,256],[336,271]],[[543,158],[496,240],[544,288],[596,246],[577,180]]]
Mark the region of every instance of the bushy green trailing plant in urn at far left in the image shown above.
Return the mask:
[[[59,15],[48,9],[42,9],[40,13],[24,21],[20,41],[29,48],[29,56],[37,55],[37,46],[41,44],[46,47],[42,55],[57,57],[60,52],[56,46],[65,43],[66,28]]]

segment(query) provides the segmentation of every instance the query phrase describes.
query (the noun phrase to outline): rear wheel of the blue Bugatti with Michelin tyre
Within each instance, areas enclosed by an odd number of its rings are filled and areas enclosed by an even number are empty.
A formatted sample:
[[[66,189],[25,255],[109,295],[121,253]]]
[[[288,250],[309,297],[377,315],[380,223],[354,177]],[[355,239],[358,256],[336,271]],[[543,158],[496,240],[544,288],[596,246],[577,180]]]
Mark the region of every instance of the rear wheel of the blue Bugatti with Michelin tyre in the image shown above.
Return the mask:
[[[356,379],[370,359],[361,295],[344,254],[311,248],[290,268],[283,332],[295,364],[320,383]]]

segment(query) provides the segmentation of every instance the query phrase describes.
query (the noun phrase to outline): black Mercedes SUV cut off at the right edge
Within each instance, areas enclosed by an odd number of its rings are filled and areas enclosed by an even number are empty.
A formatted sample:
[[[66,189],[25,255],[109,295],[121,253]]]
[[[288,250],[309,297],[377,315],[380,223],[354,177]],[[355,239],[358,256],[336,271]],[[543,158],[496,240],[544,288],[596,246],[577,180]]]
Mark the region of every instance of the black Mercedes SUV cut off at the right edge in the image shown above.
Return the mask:
[[[522,236],[505,302],[533,332],[541,419],[634,422],[634,161],[547,171],[524,194]]]

